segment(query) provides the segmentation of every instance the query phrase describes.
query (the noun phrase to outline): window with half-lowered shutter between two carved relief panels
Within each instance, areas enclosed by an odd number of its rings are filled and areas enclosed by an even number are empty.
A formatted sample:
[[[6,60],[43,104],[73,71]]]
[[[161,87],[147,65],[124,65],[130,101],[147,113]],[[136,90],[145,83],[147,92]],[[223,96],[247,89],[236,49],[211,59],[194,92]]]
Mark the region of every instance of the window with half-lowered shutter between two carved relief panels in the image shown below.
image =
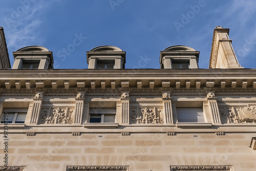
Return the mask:
[[[115,123],[116,108],[90,108],[90,123]]]

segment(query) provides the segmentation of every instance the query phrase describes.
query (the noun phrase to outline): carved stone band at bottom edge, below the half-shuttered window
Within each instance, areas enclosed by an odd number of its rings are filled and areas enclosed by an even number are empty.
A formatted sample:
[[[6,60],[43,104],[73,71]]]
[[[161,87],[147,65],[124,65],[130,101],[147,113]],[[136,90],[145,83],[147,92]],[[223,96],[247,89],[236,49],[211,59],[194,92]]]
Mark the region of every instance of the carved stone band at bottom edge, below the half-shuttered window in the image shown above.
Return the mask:
[[[129,171],[129,166],[67,166],[67,171],[73,171],[73,170],[88,170],[88,171],[94,171],[94,170],[121,170],[121,171]]]

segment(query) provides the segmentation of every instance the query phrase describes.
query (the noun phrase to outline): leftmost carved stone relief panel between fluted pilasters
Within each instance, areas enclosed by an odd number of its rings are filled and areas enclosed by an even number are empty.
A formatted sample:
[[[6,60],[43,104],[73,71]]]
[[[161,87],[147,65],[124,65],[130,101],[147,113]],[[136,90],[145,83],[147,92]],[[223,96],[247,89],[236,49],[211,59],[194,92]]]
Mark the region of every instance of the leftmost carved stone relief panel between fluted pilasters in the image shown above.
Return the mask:
[[[74,109],[50,108],[42,109],[41,124],[70,124],[73,123]]]

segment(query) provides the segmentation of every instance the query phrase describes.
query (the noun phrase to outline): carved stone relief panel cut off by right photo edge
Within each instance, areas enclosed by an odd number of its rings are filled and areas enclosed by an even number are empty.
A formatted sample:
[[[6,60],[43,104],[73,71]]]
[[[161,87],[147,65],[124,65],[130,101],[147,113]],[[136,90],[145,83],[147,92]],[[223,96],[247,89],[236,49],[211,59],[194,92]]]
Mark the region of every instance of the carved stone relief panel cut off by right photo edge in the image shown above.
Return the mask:
[[[256,106],[219,109],[222,123],[256,123]]]

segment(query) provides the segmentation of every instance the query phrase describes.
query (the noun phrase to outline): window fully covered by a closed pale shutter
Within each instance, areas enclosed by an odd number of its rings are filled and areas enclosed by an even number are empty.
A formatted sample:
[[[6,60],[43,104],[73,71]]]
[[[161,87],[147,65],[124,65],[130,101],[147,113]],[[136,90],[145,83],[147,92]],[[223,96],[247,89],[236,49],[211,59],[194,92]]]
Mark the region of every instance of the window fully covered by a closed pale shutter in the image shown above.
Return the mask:
[[[178,122],[205,122],[203,108],[176,108]]]

